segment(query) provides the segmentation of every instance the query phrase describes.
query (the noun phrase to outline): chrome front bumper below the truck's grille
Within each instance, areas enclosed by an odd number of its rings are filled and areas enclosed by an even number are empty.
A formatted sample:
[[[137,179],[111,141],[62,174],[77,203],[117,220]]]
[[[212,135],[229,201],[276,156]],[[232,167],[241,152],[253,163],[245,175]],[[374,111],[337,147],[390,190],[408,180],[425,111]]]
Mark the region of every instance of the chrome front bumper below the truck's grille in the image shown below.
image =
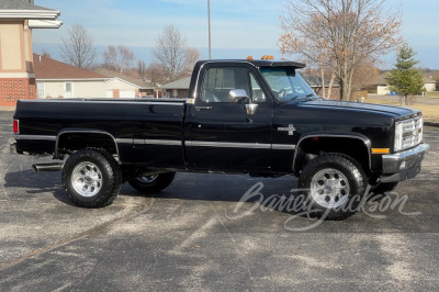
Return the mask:
[[[383,155],[383,176],[381,181],[395,182],[416,177],[429,148],[430,145],[420,144],[403,153]]]

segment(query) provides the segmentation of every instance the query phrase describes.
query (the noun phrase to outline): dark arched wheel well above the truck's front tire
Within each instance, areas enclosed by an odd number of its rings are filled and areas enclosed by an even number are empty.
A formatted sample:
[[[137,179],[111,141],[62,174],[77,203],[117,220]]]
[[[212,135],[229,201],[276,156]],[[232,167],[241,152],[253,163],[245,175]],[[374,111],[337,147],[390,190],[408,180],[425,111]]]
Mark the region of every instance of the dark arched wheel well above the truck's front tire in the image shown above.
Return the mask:
[[[300,172],[313,158],[325,153],[340,153],[356,159],[367,175],[370,173],[370,150],[359,138],[309,137],[301,142],[294,159],[294,171]]]

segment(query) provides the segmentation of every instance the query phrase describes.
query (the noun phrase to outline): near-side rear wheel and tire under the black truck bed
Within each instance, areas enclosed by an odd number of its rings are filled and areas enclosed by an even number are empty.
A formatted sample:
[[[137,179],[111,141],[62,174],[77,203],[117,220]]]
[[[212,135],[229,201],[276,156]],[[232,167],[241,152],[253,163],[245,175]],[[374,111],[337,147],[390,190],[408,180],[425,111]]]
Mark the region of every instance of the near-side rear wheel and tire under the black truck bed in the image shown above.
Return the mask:
[[[69,200],[78,206],[101,207],[111,204],[119,194],[122,172],[109,153],[87,148],[67,159],[63,186]]]

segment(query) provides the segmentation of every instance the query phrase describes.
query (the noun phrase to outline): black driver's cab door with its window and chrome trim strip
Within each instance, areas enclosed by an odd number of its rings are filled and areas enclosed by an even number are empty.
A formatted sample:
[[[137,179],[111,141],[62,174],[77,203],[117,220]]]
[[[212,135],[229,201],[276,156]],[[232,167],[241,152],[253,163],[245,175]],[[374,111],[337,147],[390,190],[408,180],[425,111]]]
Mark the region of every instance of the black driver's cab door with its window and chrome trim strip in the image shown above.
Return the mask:
[[[255,72],[245,66],[207,65],[201,74],[199,97],[187,115],[188,167],[214,171],[268,170],[273,106]],[[248,99],[230,102],[230,90],[235,89],[245,90]],[[254,113],[248,112],[251,106],[256,109]]]

